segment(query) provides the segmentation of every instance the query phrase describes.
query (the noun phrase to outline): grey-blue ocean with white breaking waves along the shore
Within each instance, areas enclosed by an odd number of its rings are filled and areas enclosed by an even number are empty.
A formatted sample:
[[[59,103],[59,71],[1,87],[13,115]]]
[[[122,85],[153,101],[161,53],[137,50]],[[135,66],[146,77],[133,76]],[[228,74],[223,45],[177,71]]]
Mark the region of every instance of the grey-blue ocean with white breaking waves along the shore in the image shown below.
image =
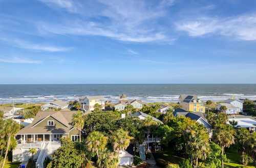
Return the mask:
[[[35,103],[77,100],[102,95],[117,101],[121,94],[143,102],[178,102],[181,94],[197,94],[202,100],[231,98],[256,100],[256,84],[84,84],[84,85],[0,85],[0,103]]]

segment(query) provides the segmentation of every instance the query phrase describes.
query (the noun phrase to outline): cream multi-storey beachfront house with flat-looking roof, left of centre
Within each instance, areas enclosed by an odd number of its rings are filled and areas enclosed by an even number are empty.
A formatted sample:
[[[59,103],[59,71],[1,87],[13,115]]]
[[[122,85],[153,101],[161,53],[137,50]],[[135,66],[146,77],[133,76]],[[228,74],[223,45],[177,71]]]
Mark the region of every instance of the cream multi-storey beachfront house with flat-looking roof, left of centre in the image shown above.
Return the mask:
[[[104,97],[103,96],[86,96],[86,97],[81,97],[79,99],[79,102],[82,105],[82,110],[86,111],[86,110],[94,110],[95,104],[98,103],[99,105],[101,105],[101,109],[105,109],[105,101],[104,101]]]

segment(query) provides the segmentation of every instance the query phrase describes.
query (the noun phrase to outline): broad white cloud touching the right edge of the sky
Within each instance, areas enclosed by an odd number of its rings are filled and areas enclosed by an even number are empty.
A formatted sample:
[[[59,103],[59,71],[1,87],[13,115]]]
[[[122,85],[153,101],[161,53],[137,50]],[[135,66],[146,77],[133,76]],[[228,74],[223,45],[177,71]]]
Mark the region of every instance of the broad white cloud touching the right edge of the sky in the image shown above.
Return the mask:
[[[218,34],[234,40],[253,41],[256,40],[256,13],[228,18],[186,19],[177,23],[176,28],[194,37]]]

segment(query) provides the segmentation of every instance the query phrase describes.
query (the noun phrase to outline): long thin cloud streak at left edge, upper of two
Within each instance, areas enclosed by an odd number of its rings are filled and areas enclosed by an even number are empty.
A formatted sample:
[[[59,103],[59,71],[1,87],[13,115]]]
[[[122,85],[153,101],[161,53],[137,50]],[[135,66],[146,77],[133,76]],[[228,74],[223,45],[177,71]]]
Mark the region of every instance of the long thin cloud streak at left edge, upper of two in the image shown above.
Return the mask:
[[[32,50],[40,50],[40,51],[49,51],[49,52],[57,52],[57,51],[67,51],[70,50],[70,47],[58,47],[58,46],[50,46],[50,45],[42,45],[35,44],[28,41],[20,40],[17,38],[0,38],[0,40],[9,43],[15,47],[32,49]]]

